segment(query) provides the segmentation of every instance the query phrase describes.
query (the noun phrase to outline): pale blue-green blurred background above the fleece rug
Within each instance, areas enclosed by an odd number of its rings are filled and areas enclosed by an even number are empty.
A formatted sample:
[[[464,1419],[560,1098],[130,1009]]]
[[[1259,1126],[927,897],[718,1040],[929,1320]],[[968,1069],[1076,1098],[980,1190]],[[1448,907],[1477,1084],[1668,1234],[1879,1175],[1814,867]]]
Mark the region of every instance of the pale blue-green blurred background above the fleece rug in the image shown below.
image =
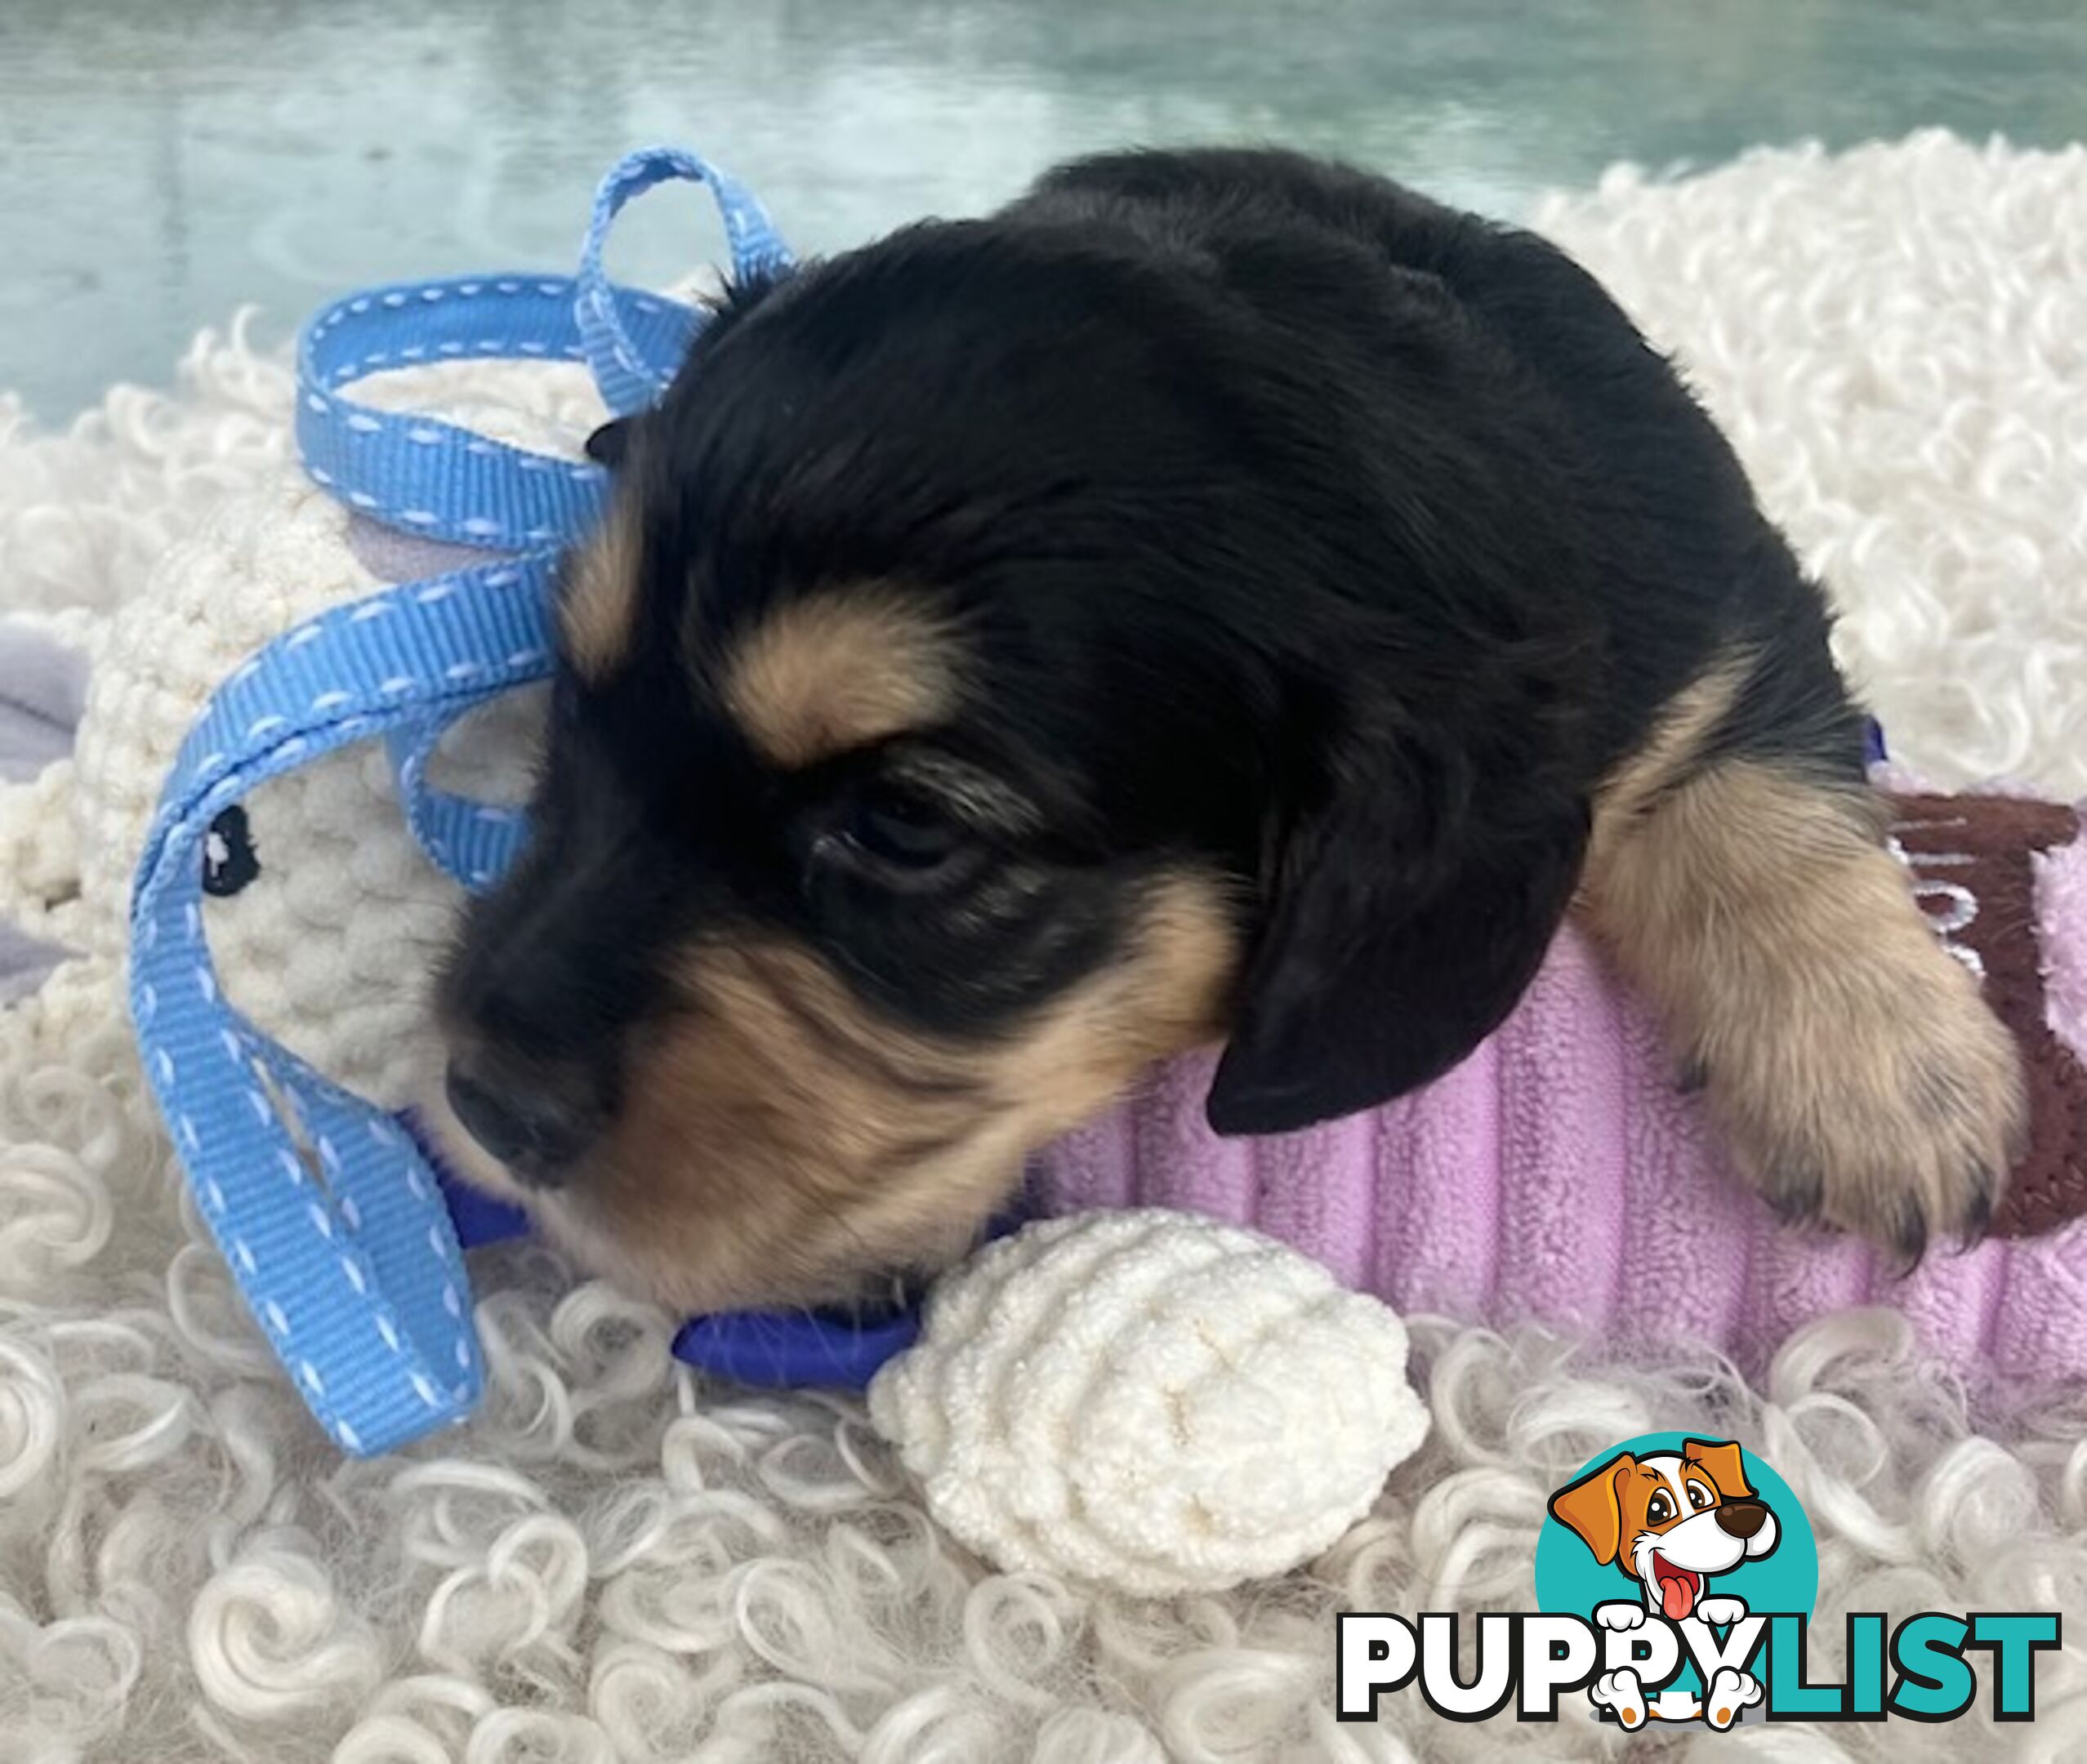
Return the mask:
[[[1513,215],[1617,159],[1941,123],[2087,132],[2087,0],[0,0],[0,388],[161,382],[238,303],[570,267],[680,140],[799,251],[983,209],[1123,142],[1327,148]],[[710,255],[689,198],[620,267]]]

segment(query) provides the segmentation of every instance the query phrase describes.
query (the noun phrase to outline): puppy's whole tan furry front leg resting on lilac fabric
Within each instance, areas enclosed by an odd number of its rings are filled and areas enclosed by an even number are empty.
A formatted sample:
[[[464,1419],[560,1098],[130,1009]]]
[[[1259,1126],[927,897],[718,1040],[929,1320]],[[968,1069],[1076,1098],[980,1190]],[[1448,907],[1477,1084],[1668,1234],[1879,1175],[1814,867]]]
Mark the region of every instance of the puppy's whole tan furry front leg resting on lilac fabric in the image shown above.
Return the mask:
[[[1734,758],[1622,816],[1586,910],[1741,1173],[1908,1261],[1976,1236],[2026,1140],[2020,1054],[1922,914],[1882,804]]]

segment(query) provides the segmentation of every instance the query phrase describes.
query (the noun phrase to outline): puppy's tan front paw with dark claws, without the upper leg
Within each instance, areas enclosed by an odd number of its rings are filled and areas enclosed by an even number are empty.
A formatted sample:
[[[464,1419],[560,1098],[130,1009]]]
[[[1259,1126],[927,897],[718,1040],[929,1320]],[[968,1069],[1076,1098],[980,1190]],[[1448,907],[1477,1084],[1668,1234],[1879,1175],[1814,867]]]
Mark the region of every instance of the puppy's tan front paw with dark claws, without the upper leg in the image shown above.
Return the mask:
[[[1741,1171],[1786,1219],[1908,1263],[1930,1236],[1976,1238],[2029,1131],[2020,1052],[1978,983],[1918,923],[1774,979],[1780,1008],[1705,1050]]]

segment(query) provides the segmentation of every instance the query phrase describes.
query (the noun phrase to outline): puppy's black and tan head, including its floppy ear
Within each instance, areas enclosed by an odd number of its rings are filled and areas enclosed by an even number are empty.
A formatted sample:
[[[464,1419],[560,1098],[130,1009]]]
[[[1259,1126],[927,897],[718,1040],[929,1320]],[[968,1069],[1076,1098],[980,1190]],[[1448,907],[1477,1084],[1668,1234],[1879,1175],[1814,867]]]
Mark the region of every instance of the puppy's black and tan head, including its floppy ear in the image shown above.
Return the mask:
[[[1444,612],[1494,566],[1415,532],[1425,434],[1300,386],[1369,372],[1321,317],[1002,223],[735,296],[597,449],[532,841],[440,987],[459,1163],[666,1303],[810,1303],[1156,1056],[1229,1038],[1267,1131],[1486,1033],[1584,837],[1569,645]]]

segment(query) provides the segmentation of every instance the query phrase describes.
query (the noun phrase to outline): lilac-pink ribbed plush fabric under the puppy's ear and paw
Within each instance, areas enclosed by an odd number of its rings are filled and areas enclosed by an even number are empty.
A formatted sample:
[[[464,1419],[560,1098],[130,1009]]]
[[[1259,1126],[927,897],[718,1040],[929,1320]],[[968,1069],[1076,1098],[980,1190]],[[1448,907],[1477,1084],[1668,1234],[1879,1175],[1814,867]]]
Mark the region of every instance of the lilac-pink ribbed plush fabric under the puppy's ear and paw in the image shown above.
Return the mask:
[[[2058,1123],[2070,1194],[2087,1115],[2087,841],[2016,856],[2033,877],[2022,896],[2035,902],[2043,1054],[2066,1067],[2056,1088],[2037,1088],[2037,1106],[2070,1111],[2070,1125]],[[1978,969],[1968,925],[1991,902],[1964,891],[1968,860],[1910,862],[1937,931]],[[1987,929],[2024,937],[2026,916]],[[1129,1104],[1052,1146],[1039,1161],[1046,1202],[1215,1213],[1309,1250],[1407,1313],[1532,1317],[1617,1342],[1699,1338],[1749,1372],[1795,1326],[1882,1303],[1966,1374],[2087,1380],[2087,1217],[2043,1219],[2035,1234],[1964,1253],[1939,1244],[1903,1280],[1860,1242],[1780,1225],[1726,1171],[1653,1025],[1574,931],[1469,1060],[1365,1115],[1219,1140],[1202,1115],[1210,1065],[1162,1067]],[[2049,1125],[2039,1123],[2045,1142]]]

